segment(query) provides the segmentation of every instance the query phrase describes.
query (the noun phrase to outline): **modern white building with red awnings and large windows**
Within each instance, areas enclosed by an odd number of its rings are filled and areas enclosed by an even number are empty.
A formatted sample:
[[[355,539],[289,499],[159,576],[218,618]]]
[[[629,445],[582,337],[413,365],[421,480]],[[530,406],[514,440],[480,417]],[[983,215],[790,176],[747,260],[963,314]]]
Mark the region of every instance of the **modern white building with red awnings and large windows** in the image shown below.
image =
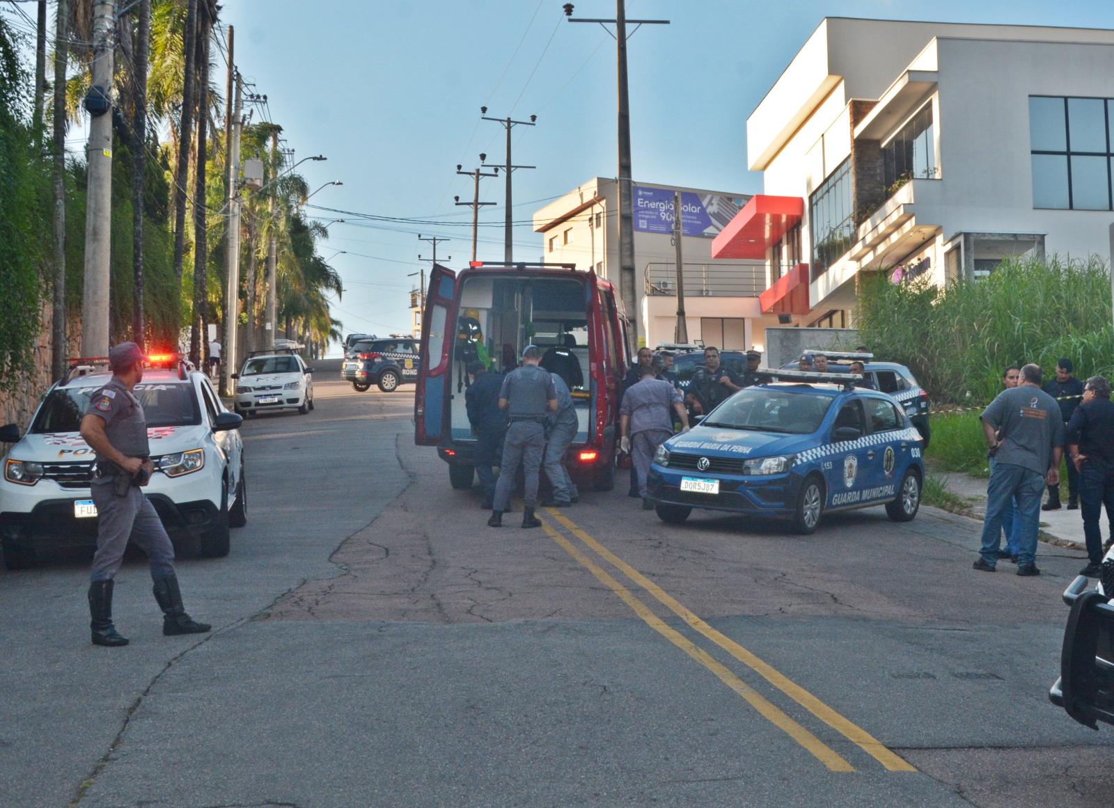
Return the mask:
[[[1110,257],[1114,31],[828,18],[746,121],[755,196],[712,247],[763,313],[851,325],[860,272],[942,285]]]

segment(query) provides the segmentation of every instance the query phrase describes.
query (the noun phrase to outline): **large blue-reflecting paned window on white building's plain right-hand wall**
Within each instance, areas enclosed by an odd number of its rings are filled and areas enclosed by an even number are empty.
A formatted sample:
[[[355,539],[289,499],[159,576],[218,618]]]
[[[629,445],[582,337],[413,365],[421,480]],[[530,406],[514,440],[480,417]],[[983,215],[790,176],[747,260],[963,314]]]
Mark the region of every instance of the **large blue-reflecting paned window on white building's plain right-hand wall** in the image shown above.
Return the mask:
[[[1029,96],[1033,207],[1110,210],[1114,99]]]

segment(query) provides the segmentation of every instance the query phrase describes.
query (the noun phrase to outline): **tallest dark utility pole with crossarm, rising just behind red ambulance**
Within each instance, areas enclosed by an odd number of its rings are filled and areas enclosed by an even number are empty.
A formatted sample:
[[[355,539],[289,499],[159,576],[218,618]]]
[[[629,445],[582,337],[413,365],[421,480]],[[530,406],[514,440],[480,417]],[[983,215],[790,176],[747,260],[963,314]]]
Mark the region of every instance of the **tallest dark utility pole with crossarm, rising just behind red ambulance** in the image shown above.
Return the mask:
[[[635,267],[634,267],[634,206],[631,196],[634,194],[631,170],[631,98],[627,91],[627,67],[626,67],[626,26],[634,23],[631,36],[642,26],[667,26],[668,20],[628,20],[626,18],[626,4],[624,0],[615,0],[615,19],[602,20],[595,18],[573,19],[573,3],[565,3],[565,16],[569,22],[596,22],[607,31],[606,23],[615,26],[616,45],[616,67],[618,72],[618,146],[619,146],[619,171],[618,171],[618,196],[619,196],[619,288],[623,294],[623,305],[627,311],[627,316],[634,323],[635,338],[637,339],[639,327],[637,297],[635,296]]]

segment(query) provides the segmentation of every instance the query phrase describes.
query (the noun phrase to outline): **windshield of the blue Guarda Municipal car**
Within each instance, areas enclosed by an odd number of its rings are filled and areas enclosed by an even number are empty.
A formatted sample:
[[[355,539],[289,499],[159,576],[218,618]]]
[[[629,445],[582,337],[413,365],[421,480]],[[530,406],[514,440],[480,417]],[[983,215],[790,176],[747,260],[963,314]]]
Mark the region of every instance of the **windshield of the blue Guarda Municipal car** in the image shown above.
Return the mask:
[[[799,387],[747,387],[713,410],[701,425],[807,435],[820,428],[831,403],[830,395]]]

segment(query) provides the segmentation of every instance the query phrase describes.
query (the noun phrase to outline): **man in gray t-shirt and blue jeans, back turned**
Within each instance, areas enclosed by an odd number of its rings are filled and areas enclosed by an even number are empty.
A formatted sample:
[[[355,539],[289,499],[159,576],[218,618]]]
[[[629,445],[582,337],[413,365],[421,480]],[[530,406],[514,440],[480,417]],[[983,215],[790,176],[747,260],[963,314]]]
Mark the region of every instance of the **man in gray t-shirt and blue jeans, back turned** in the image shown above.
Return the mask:
[[[1035,561],[1040,495],[1046,480],[1049,485],[1059,482],[1064,423],[1059,406],[1040,390],[1040,366],[1025,365],[1020,375],[1020,384],[999,393],[981,415],[994,462],[987,485],[983,548],[974,566],[994,571],[1003,515],[1013,496],[1020,528],[1020,535],[1013,536],[1018,545],[1017,574],[1038,575]]]

